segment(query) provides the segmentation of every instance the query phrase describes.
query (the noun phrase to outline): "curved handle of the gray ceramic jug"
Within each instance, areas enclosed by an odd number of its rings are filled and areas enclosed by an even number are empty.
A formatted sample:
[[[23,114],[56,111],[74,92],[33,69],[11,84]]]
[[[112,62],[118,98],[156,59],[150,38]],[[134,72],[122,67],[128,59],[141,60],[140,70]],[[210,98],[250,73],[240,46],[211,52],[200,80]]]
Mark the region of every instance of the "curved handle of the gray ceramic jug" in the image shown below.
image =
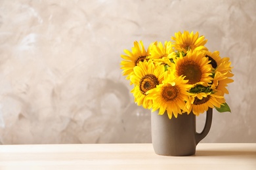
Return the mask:
[[[211,121],[213,119],[213,109],[209,108],[206,112],[206,120],[205,125],[201,133],[196,132],[196,144],[198,144],[208,133],[211,129]]]

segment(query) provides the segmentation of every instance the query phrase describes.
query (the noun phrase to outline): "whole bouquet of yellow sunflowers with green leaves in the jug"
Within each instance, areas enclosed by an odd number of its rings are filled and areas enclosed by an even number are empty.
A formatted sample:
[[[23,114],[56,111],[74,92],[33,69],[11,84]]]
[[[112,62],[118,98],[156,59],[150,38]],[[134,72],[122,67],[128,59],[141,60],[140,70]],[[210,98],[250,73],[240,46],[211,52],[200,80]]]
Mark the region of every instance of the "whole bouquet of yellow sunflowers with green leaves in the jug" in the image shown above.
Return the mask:
[[[145,109],[174,115],[199,115],[210,108],[230,112],[224,99],[226,86],[233,82],[229,58],[210,52],[204,36],[193,31],[175,33],[172,41],[152,42],[145,50],[135,41],[131,51],[121,55],[121,69],[134,85],[135,103]]]

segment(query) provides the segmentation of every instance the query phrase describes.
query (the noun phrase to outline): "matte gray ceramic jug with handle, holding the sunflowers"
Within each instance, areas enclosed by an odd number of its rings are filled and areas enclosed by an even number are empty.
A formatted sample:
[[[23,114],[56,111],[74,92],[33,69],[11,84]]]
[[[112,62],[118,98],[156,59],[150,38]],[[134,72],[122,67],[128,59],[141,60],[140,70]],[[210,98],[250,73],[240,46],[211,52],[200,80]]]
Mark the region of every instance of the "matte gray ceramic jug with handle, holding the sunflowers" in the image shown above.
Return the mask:
[[[196,115],[179,114],[169,119],[167,112],[158,115],[151,113],[152,144],[156,154],[164,156],[190,156],[196,153],[196,145],[208,134],[211,128],[213,109],[206,112],[205,126],[201,133],[196,132]]]

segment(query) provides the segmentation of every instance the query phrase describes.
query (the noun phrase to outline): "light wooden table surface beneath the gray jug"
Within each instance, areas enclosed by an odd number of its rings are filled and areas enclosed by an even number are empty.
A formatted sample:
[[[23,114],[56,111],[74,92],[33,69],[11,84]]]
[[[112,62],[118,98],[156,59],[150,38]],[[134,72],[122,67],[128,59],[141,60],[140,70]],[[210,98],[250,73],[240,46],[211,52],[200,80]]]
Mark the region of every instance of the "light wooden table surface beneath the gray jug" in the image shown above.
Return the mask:
[[[256,143],[200,143],[196,155],[159,156],[152,144],[0,145],[0,169],[256,169]]]

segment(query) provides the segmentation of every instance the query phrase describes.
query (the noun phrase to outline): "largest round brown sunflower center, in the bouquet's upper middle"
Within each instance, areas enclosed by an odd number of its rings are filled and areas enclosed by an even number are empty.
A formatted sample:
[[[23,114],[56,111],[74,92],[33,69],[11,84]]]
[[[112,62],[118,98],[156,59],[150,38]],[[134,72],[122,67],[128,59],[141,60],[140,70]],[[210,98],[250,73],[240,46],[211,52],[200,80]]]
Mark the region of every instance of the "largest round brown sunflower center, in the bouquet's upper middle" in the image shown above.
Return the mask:
[[[200,66],[195,61],[184,61],[178,69],[178,75],[185,76],[184,80],[188,80],[188,84],[195,84],[200,82],[202,72]]]

